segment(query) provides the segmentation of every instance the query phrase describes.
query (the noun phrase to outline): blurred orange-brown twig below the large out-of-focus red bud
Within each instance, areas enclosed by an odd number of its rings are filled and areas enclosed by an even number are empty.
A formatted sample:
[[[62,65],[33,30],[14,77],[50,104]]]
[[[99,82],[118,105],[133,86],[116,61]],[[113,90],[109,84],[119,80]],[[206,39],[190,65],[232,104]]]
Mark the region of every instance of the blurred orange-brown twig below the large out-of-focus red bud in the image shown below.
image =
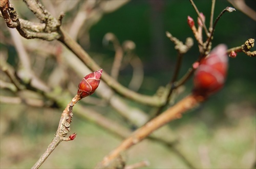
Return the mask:
[[[113,150],[109,155],[105,156],[104,159],[96,166],[96,168],[107,167],[112,160],[119,156],[121,152],[129,149],[135,144],[138,144],[146,136],[150,135],[153,131],[165,125],[166,123],[181,118],[182,114],[186,110],[195,107],[199,101],[201,100],[198,97],[189,95],[179,101],[173,107],[168,108],[161,115],[146,123],[144,126],[136,130],[133,135],[126,138],[115,150]]]

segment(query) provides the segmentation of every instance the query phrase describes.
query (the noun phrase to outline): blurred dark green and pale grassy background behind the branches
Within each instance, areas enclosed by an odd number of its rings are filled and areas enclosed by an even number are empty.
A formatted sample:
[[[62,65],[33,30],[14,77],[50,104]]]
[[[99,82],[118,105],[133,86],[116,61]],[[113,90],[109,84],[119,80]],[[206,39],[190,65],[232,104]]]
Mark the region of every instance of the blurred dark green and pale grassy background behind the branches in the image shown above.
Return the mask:
[[[211,1],[195,3],[206,16],[208,25]],[[255,6],[255,1],[249,3]],[[226,6],[230,4],[217,1],[214,18]],[[26,16],[21,12],[19,15]],[[114,52],[102,45],[103,36],[112,32],[120,43],[125,40],[134,41],[136,53],[145,70],[139,92],[151,95],[159,86],[166,85],[172,77],[176,61],[174,44],[165,36],[165,31],[182,41],[193,37],[187,25],[188,15],[197,20],[196,12],[189,1],[161,1],[159,4],[157,1],[131,1],[115,12],[105,14],[91,27],[90,47],[83,43],[82,37],[79,37],[78,41],[82,47],[88,48],[88,52],[107,72],[110,72]],[[68,13],[65,17],[73,15]],[[157,21],[158,19],[161,19],[161,22]],[[1,29],[6,26],[2,20],[0,23]],[[255,22],[242,12],[225,13],[216,27],[212,46],[219,43],[225,43],[228,47],[240,46],[248,38],[256,39],[255,30]],[[160,41],[156,37],[160,38]],[[156,43],[162,46],[156,46]],[[14,48],[3,44],[2,40],[0,45],[1,48],[8,48],[8,62],[16,66],[17,54]],[[255,50],[255,47],[252,50]],[[158,54],[161,55],[160,58]],[[197,59],[198,54],[195,44],[184,57],[180,77]],[[224,89],[185,114],[182,119],[169,124],[179,137],[178,147],[191,161],[203,168],[249,168],[256,156],[255,58],[238,53],[238,57],[230,59],[229,63]],[[131,79],[131,72],[131,67],[121,70],[119,81],[124,86],[129,82],[127,79]],[[177,100],[190,92],[191,80],[185,87],[185,92]],[[4,91],[1,91],[1,94],[3,93]],[[150,110],[144,106],[141,108]],[[114,112],[111,108],[107,110]],[[61,111],[1,103],[0,167],[31,167],[54,136]],[[122,120],[119,117],[116,119]],[[113,135],[75,115],[71,125],[70,133],[77,132],[77,138],[73,142],[61,143],[42,168],[92,168],[120,143]],[[151,163],[148,168],[186,168],[174,153],[148,140],[133,147],[128,154],[129,163],[148,159]]]

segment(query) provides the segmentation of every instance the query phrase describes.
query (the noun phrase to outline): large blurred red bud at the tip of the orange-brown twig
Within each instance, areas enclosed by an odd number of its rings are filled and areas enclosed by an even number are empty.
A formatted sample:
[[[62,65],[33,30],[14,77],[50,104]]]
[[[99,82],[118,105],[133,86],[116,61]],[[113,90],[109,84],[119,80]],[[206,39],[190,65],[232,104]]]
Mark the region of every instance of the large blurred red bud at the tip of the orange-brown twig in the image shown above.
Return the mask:
[[[228,67],[226,50],[226,45],[220,44],[200,62],[194,77],[195,95],[207,97],[223,87]]]

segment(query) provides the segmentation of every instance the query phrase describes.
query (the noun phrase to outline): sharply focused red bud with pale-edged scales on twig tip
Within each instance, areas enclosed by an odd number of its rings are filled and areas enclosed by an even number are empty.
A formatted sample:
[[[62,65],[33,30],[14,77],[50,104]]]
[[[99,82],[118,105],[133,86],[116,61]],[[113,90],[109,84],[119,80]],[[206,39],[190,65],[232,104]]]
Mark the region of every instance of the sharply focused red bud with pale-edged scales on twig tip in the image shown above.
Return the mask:
[[[99,86],[102,69],[83,77],[78,85],[77,95],[84,98],[92,95]]]

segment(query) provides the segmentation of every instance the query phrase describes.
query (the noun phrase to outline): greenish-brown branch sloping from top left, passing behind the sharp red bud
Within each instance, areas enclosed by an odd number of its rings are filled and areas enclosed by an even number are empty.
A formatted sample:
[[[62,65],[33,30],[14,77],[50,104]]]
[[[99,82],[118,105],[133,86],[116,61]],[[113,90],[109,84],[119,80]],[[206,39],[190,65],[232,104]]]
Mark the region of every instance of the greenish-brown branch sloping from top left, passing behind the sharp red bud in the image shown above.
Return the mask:
[[[32,1],[26,1],[24,0],[28,6],[30,6],[30,9],[34,12],[34,13],[41,13],[41,4],[36,1],[33,2],[31,5],[30,3]],[[34,5],[34,3],[36,3]],[[11,6],[11,5],[10,5]],[[34,6],[39,6],[38,10],[34,9]],[[14,8],[9,8],[9,13],[10,11],[15,11]],[[59,19],[53,19],[52,16],[50,16],[50,14],[48,12],[46,12],[44,10],[45,13],[47,13],[49,20],[47,20],[46,22],[46,27],[45,27],[45,31],[47,31],[48,33],[33,33],[33,36],[30,35],[25,35],[23,33],[20,33],[20,35],[22,35],[23,37],[30,39],[30,38],[40,38],[40,39],[45,39],[45,40],[54,40],[54,39],[58,39],[60,42],[62,42],[63,44],[65,44],[72,52],[74,52],[77,57],[84,63],[86,64],[91,70],[95,71],[95,70],[99,70],[100,67],[91,59],[91,57],[89,56],[89,54],[84,51],[81,46],[74,41],[65,31],[63,31],[62,29],[59,29],[60,24],[61,24],[61,18],[63,17],[63,14],[60,14]],[[15,13],[15,21],[18,23],[18,25],[20,25],[19,23],[19,19],[18,16],[16,15],[16,11]],[[11,18],[13,18],[11,16]],[[39,17],[40,18],[40,17]],[[42,18],[41,18],[42,19]],[[44,20],[44,19],[43,19]],[[54,22],[54,23],[52,23]],[[56,26],[56,27],[54,27]],[[19,26],[22,27],[22,26]],[[18,27],[16,27],[16,29],[18,30]],[[56,32],[54,32],[56,31]],[[47,34],[47,36],[45,36],[45,34]],[[54,36],[50,36],[49,35],[54,34]],[[44,36],[43,36],[44,35]],[[43,36],[43,37],[42,37]],[[129,90],[125,87],[123,87],[119,82],[117,82],[114,78],[112,78],[111,76],[109,76],[106,73],[103,73],[102,75],[102,80],[105,81],[108,86],[110,86],[111,88],[113,88],[116,92],[120,93],[121,95],[124,95],[127,98],[130,98],[132,100],[135,100],[137,102],[143,103],[143,104],[147,104],[147,105],[151,105],[151,106],[160,106],[164,103],[164,98],[159,98],[158,96],[147,96],[147,95],[142,95],[142,94],[138,94],[132,90]]]

